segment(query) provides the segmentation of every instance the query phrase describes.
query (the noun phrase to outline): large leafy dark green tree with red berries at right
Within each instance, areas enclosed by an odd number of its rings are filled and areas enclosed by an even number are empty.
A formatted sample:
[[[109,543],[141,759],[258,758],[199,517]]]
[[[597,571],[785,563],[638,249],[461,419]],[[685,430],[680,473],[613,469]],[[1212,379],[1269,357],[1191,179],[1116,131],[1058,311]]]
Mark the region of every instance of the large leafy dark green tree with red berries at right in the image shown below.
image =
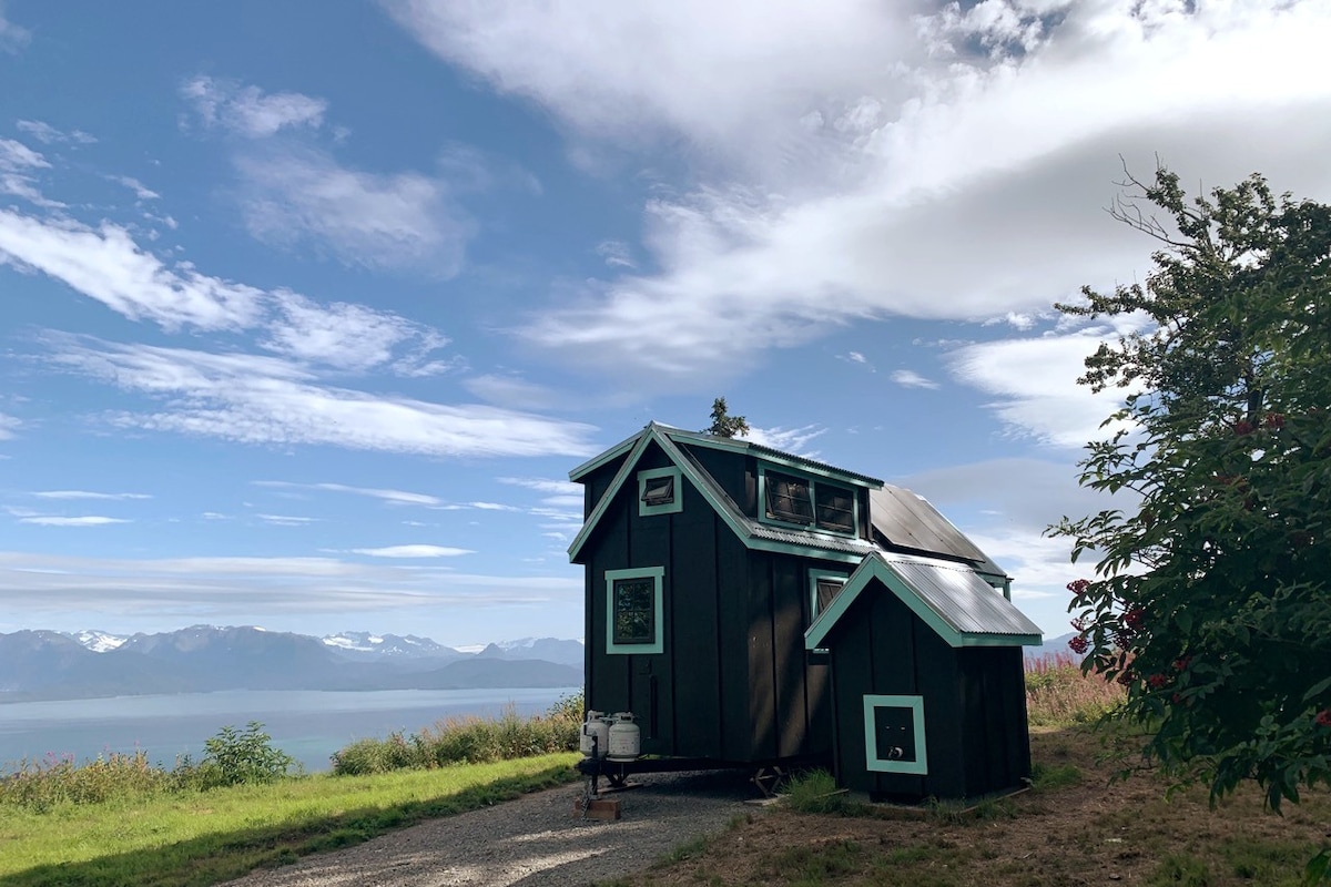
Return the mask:
[[[1331,785],[1331,206],[1256,174],[1123,185],[1111,213],[1159,242],[1154,270],[1055,306],[1142,322],[1079,379],[1126,394],[1081,484],[1141,500],[1050,528],[1101,557],[1069,584],[1071,646],[1127,688],[1149,762],[1213,801],[1256,779],[1278,811]]]

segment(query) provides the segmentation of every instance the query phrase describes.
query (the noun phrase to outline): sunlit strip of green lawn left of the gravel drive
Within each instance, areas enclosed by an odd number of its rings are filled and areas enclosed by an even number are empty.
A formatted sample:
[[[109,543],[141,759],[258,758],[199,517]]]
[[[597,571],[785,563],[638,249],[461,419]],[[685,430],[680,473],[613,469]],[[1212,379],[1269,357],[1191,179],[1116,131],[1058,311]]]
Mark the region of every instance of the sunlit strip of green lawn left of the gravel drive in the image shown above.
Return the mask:
[[[213,884],[572,781],[578,757],[314,775],[44,811],[0,805],[0,886]]]

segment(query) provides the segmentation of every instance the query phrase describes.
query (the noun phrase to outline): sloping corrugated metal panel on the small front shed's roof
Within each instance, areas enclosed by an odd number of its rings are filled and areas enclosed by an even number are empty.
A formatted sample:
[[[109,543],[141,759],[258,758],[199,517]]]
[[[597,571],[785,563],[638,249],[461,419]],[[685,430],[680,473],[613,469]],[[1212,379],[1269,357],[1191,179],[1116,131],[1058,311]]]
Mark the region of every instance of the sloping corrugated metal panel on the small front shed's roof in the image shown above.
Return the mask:
[[[880,557],[961,634],[1041,634],[1038,625],[969,567],[901,555]]]

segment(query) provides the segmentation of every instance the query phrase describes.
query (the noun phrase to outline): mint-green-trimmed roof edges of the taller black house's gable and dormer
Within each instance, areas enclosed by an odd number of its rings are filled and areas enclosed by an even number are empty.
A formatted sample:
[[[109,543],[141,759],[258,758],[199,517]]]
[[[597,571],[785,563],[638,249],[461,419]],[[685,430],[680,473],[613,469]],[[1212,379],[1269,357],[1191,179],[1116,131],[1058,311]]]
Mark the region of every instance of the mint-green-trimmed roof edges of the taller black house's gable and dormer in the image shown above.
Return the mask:
[[[680,469],[680,473],[688,479],[693,488],[703,496],[703,499],[707,500],[716,513],[720,515],[721,520],[748,548],[793,552],[797,555],[816,556],[824,560],[839,560],[851,564],[858,563],[866,553],[874,549],[873,543],[864,539],[833,536],[831,533],[820,533],[816,531],[783,529],[780,527],[772,527],[753,520],[740,511],[740,507],[735,504],[735,500],[732,500],[729,495],[721,489],[720,484],[712,479],[712,476],[697,463],[697,460],[688,455],[688,452],[681,447],[676,445],[676,440],[684,440],[691,444],[697,443],[717,449],[731,449],[735,452],[757,449],[763,459],[769,461],[779,461],[780,459],[784,459],[792,464],[797,463],[803,471],[821,473],[844,483],[869,488],[882,484],[881,480],[866,475],[843,471],[833,465],[827,465],[801,456],[791,456],[789,453],[783,453],[768,447],[760,447],[759,444],[736,442],[727,438],[713,438],[712,435],[695,434],[692,431],[681,431],[679,428],[671,428],[652,422],[628,440],[620,442],[606,453],[602,453],[591,461],[583,463],[578,468],[574,468],[574,471],[568,472],[570,480],[580,480],[596,468],[610,464],[615,457],[626,452],[628,453],[628,457],[619,465],[619,471],[615,472],[615,477],[610,481],[610,487],[606,489],[604,495],[592,508],[591,513],[587,515],[587,520],[583,524],[582,531],[579,531],[578,536],[574,537],[572,544],[568,547],[568,560],[578,560],[578,555],[582,552],[583,545],[587,544],[587,540],[591,539],[596,524],[606,515],[606,511],[610,508],[611,501],[614,501],[619,491],[626,483],[628,483],[630,477],[634,476],[639,459],[642,459],[647,447],[652,443],[659,445],[666,452],[667,457],[669,457],[669,460]],[[775,456],[768,453],[775,453]]]

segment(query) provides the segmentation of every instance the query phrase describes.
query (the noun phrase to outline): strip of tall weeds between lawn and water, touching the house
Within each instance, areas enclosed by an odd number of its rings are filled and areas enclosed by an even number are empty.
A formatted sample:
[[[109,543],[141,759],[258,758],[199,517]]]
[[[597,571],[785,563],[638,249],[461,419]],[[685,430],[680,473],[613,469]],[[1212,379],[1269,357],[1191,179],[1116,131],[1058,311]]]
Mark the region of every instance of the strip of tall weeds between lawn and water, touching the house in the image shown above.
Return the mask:
[[[333,773],[362,775],[575,751],[580,726],[580,694],[560,699],[546,715],[523,718],[508,706],[499,718],[449,719],[421,733],[358,739],[333,754]]]

